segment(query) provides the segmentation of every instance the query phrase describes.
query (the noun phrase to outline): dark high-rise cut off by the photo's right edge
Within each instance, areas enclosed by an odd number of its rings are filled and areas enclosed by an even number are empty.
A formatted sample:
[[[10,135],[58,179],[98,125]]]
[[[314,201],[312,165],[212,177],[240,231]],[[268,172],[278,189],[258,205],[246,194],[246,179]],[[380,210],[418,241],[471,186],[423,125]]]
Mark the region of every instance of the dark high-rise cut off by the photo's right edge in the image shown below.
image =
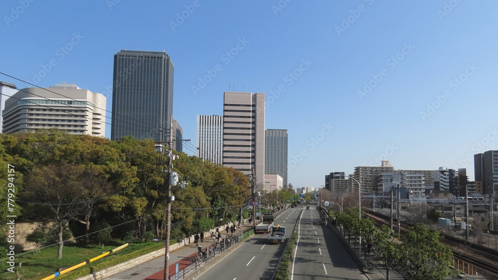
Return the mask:
[[[481,181],[485,195],[498,196],[498,150],[488,150],[474,155],[476,182]]]

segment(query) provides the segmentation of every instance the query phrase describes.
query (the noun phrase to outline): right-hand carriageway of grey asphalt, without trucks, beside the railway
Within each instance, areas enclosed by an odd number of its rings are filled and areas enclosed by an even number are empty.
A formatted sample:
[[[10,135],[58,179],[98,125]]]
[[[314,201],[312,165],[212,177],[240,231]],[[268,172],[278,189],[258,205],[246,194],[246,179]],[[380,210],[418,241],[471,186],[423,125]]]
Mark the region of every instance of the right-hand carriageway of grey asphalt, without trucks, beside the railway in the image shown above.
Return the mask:
[[[341,242],[325,228],[316,206],[304,210],[298,222],[299,241],[291,280],[367,280]],[[291,259],[292,262],[292,259]]]

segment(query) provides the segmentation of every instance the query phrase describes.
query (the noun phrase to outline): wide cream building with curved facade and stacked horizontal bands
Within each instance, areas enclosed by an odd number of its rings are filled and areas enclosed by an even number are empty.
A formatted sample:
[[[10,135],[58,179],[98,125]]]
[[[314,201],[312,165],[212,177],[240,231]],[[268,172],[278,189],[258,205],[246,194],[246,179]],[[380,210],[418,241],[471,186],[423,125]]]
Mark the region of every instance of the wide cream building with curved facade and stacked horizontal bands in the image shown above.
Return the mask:
[[[5,101],[3,133],[57,128],[69,134],[104,137],[106,97],[73,84],[25,88]]]

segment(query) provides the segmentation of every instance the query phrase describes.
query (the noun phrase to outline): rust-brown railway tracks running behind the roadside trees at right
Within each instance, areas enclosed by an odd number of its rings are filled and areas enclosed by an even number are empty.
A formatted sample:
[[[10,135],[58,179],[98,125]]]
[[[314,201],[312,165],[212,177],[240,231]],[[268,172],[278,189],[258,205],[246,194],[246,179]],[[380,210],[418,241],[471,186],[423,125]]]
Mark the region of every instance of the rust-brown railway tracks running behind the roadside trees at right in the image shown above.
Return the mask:
[[[388,220],[390,220],[390,217],[388,217],[386,215],[378,214],[375,212],[369,212],[369,213],[366,213],[365,215],[372,218],[373,221],[377,224],[390,226],[390,222],[388,221]],[[411,226],[411,225],[407,225],[407,226]],[[404,225],[402,225],[400,228],[400,233],[404,234],[407,231],[408,231],[407,228]],[[482,259],[478,259],[478,258],[470,255],[469,253],[464,254],[461,252],[456,252],[454,250],[453,256],[455,259],[458,259],[465,264],[472,265],[475,268],[482,270],[482,271],[480,271],[481,273],[483,273],[483,271],[486,271],[488,274],[491,274],[493,276],[493,279],[498,278],[498,265],[497,265],[498,251],[493,250],[493,249],[489,249],[489,248],[486,248],[486,247],[483,247],[483,246],[480,246],[477,244],[467,243],[461,239],[458,239],[458,238],[455,238],[455,237],[452,237],[452,236],[449,236],[446,234],[441,234],[441,235],[444,236],[443,243],[446,244],[447,246],[450,246],[450,247],[457,247],[457,246],[458,247],[461,247],[461,246],[468,247],[468,249],[465,250],[466,252],[472,252],[476,256],[481,256],[481,258],[482,257],[488,258],[488,261],[483,261]],[[449,243],[453,243],[453,245],[449,244]],[[456,246],[455,246],[455,244],[456,244]],[[486,256],[486,255],[488,255],[488,256]]]

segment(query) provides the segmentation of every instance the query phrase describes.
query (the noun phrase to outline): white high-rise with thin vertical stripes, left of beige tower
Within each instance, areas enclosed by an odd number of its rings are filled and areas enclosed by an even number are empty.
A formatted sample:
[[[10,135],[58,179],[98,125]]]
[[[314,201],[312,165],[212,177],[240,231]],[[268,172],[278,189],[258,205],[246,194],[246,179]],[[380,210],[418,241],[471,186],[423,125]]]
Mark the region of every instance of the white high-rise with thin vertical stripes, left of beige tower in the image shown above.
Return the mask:
[[[223,116],[197,116],[197,156],[223,164]]]

